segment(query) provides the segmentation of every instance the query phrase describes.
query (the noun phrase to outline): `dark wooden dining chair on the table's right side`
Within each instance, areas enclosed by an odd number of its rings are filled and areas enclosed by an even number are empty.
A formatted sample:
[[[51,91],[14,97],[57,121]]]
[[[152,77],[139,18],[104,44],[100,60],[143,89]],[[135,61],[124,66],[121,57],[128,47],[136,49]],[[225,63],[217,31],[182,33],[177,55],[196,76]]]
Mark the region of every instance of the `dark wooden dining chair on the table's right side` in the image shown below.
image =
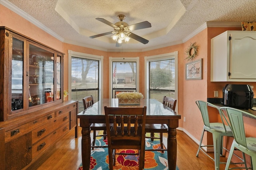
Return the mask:
[[[164,96],[162,104],[169,107],[172,110],[175,110],[177,100],[174,98]],[[154,139],[160,139],[160,149],[147,149],[148,151],[162,151],[167,150],[166,147],[164,149],[163,144],[163,133],[168,133],[168,126],[166,124],[146,124],[145,125],[146,133],[150,133],[151,141]],[[159,137],[155,137],[154,133],[159,133]]]

